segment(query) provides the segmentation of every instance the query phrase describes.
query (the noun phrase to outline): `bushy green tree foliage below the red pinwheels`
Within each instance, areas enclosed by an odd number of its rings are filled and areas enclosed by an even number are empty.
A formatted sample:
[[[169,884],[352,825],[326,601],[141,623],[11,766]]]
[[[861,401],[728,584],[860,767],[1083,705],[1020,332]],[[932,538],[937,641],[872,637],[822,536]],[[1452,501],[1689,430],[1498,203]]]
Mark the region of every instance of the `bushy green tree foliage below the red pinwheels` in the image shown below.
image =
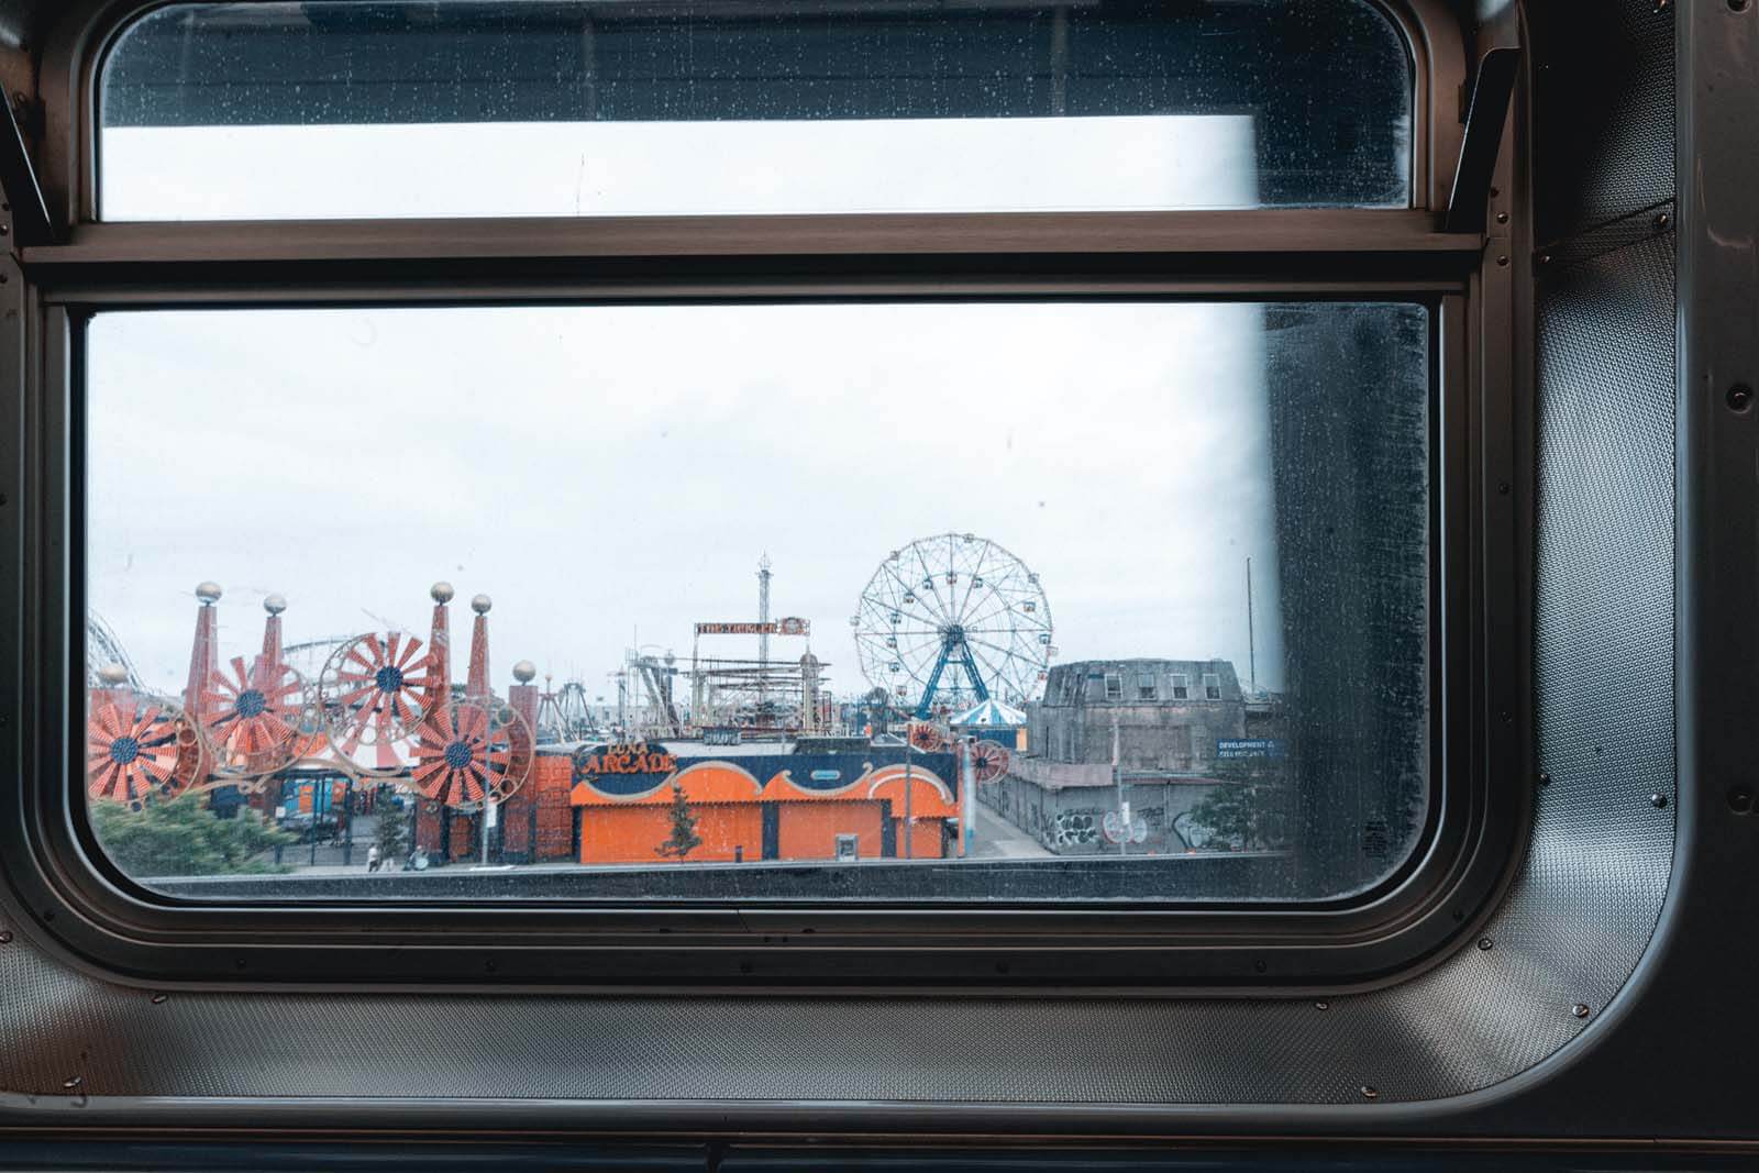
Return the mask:
[[[296,842],[297,835],[269,827],[250,807],[223,820],[204,795],[183,795],[148,802],[139,811],[118,802],[93,802],[90,809],[104,851],[134,878],[290,871],[260,856]]]

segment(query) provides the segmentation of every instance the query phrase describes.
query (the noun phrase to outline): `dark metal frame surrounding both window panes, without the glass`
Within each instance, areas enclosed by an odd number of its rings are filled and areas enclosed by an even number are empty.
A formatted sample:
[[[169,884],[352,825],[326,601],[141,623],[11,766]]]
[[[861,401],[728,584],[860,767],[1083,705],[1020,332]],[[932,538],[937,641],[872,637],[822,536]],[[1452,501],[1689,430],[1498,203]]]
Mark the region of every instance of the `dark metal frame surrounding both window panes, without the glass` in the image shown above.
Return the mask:
[[[97,63],[160,0],[83,0],[44,51],[37,151],[60,239],[0,260],[0,902],[113,980],[545,983],[730,990],[955,985],[1261,994],[1361,988],[1439,957],[1488,914],[1530,816],[1522,640],[1525,514],[1492,485],[1513,426],[1507,269],[1446,234],[1465,77],[1439,0],[1374,0],[1412,47],[1412,208],[1173,213],[167,222],[91,218]],[[11,216],[11,211],[7,211]],[[1493,241],[1488,241],[1493,243]],[[83,322],[150,306],[821,299],[1340,299],[1432,310],[1432,804],[1381,885],[1316,902],[1145,900],[1128,911],[544,899],[216,904],[148,893],[97,848],[67,779],[84,705]],[[1495,714],[1492,718],[1490,714]],[[1511,730],[1513,726],[1513,730]],[[1513,735],[1509,735],[1513,732]],[[1242,890],[1251,860],[1214,863]],[[908,865],[920,867],[920,865]],[[967,865],[969,867],[969,865]],[[1055,871],[1055,869],[1052,869]],[[396,948],[357,950],[362,930]],[[807,936],[809,934],[809,936]],[[1080,948],[1069,948],[1069,937]]]

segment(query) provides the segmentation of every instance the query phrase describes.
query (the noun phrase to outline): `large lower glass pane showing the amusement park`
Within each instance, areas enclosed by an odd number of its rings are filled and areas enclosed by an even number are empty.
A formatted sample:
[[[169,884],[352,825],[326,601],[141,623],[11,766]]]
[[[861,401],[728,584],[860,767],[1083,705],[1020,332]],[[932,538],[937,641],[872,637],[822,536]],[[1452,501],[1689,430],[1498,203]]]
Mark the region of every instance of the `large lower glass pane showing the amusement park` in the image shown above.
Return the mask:
[[[1428,338],[100,313],[83,805],[220,899],[1360,890],[1430,793]]]

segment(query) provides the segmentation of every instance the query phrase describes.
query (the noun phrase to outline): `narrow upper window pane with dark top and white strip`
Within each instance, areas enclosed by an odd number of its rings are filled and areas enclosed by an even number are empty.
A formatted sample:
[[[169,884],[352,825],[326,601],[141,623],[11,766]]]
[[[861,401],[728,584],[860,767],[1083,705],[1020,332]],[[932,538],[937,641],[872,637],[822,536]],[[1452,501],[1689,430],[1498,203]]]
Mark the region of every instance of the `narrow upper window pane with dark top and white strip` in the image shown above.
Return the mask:
[[[106,220],[1404,206],[1369,0],[172,4]]]

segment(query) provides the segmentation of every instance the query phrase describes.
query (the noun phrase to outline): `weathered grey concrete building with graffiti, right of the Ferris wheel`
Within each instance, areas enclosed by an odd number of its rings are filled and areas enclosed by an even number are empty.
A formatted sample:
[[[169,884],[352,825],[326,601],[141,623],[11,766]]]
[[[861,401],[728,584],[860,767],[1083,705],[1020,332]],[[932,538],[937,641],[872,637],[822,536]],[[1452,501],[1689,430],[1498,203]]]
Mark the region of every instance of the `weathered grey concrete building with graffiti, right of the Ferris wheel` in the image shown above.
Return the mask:
[[[1027,707],[1027,753],[978,797],[1059,855],[1119,851],[1113,723],[1129,851],[1214,848],[1193,807],[1281,770],[1281,705],[1247,698],[1233,663],[1091,659],[1050,670],[1045,698]]]

